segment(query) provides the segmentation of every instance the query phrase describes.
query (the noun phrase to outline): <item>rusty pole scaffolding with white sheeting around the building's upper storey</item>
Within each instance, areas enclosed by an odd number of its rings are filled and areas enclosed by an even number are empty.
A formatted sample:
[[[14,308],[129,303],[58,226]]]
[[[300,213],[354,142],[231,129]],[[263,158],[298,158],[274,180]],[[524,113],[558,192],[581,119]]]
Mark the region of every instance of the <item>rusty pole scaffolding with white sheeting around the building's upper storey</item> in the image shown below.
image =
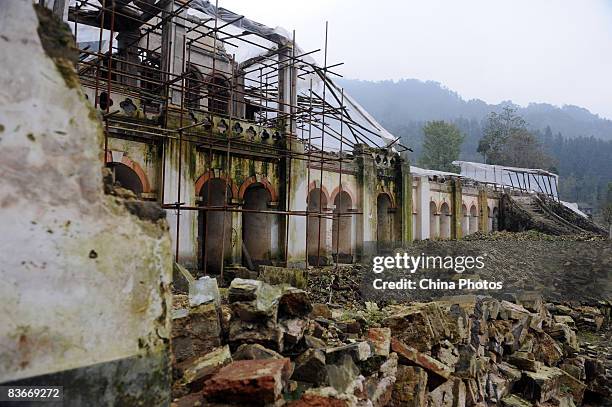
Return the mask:
[[[319,188],[318,210],[292,210],[291,191],[284,191],[279,208],[249,209],[228,200],[228,181],[223,205],[210,203],[211,182],[202,205],[183,202],[181,172],[185,143],[208,155],[226,155],[223,173],[231,173],[231,155],[237,152],[269,154],[283,160],[285,188],[292,177],[291,162],[306,162],[307,185],[311,169],[318,169],[320,185],[324,168],[348,165],[360,145],[384,151],[409,150],[393,138],[332,77],[341,64],[328,63],[328,26],[322,49],[302,51],[292,35],[272,30],[202,0],[72,0],[68,20],[79,46],[78,73],[104,125],[105,163],[109,160],[109,137],[128,134],[134,138],[178,142],[178,186],[165,191],[166,160],[162,157],[158,200],[176,211],[174,250],[179,261],[180,214],[183,211],[221,211],[221,242],[225,245],[225,222],[232,212],[255,212],[284,218],[285,263],[288,256],[290,217],[318,219],[320,265],[321,219],[352,217],[351,210],[333,214],[323,211]],[[96,31],[93,31],[93,30]],[[178,42],[178,43],[177,43]],[[322,52],[323,65],[312,55]],[[114,95],[125,100],[113,105]],[[126,113],[127,112],[127,113]],[[137,112],[134,114],[134,112]],[[131,115],[131,116],[130,116]],[[253,140],[260,141],[253,149]],[[169,154],[164,148],[163,154]],[[338,228],[340,222],[336,222]],[[205,222],[204,240],[209,233]],[[306,227],[306,262],[308,233]],[[336,233],[339,239],[339,233]],[[338,263],[338,242],[336,264]],[[204,273],[207,273],[207,250]],[[222,255],[225,247],[221,248]],[[224,262],[221,262],[223,276]]]

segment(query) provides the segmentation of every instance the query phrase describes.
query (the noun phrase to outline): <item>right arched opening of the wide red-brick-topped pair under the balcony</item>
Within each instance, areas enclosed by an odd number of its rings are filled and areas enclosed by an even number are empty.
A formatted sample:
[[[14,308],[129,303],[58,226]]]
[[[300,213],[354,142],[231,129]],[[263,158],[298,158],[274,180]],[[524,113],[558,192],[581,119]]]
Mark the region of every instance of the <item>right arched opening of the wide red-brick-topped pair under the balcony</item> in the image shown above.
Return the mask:
[[[272,200],[266,187],[257,182],[244,192],[243,208],[263,211]],[[242,257],[247,267],[272,264],[272,217],[269,213],[243,212],[242,215]]]

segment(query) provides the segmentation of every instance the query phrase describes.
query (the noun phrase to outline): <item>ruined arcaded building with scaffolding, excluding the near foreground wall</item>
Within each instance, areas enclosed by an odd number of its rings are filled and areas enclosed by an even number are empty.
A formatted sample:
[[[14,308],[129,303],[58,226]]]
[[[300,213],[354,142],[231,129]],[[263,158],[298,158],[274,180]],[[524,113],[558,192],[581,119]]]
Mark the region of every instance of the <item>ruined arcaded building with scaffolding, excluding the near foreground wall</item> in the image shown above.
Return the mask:
[[[326,49],[318,66],[295,34],[208,2],[94,3],[68,17],[105,165],[166,209],[195,274],[352,263],[368,246],[497,227],[500,191],[411,168],[334,82]]]

